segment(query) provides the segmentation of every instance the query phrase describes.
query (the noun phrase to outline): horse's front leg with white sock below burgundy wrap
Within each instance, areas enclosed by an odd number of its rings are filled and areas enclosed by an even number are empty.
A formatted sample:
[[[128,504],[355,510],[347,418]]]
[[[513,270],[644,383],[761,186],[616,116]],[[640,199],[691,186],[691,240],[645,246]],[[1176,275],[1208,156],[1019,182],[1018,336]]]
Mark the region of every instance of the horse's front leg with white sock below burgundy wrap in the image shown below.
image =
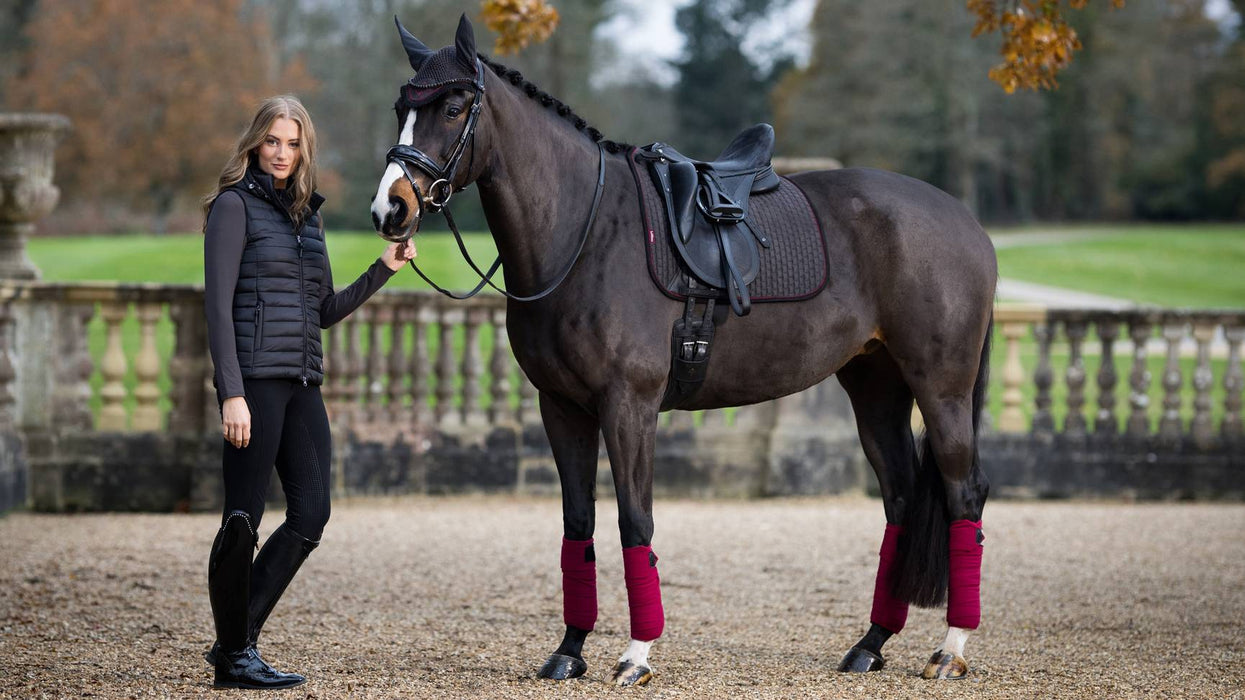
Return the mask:
[[[601,411],[601,432],[619,503],[622,568],[631,613],[631,643],[619,658],[611,680],[620,686],[642,685],[652,679],[649,649],[661,636],[666,624],[657,556],[652,553],[652,455],[657,436],[657,404],[634,397],[606,402]]]

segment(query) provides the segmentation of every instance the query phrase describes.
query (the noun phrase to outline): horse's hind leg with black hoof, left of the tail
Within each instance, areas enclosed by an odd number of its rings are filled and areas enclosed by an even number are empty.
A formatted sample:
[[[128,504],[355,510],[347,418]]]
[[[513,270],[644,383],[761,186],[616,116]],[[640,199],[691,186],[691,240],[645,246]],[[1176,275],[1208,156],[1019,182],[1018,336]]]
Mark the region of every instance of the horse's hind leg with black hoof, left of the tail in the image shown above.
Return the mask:
[[[891,593],[891,574],[916,466],[911,428],[913,392],[885,348],[855,357],[837,374],[852,399],[860,446],[878,475],[886,513],[869,631],[848,650],[839,670],[876,671],[885,664],[881,645],[899,634],[908,619],[908,603]]]

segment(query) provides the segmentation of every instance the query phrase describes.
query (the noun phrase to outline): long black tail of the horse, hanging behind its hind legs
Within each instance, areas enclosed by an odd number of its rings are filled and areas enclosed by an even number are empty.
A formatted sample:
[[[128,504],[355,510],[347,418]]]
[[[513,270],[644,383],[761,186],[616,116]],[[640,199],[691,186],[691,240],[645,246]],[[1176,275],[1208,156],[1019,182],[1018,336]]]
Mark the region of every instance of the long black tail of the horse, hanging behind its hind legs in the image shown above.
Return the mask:
[[[981,468],[977,457],[977,435],[986,399],[986,382],[990,379],[990,340],[994,333],[995,315],[991,311],[977,365],[977,380],[972,385],[974,472]],[[923,608],[933,608],[946,602],[950,524],[942,475],[937,468],[929,435],[923,432],[916,455],[916,485],[911,502],[904,512],[904,531],[899,538],[899,568],[891,582],[895,597]]]

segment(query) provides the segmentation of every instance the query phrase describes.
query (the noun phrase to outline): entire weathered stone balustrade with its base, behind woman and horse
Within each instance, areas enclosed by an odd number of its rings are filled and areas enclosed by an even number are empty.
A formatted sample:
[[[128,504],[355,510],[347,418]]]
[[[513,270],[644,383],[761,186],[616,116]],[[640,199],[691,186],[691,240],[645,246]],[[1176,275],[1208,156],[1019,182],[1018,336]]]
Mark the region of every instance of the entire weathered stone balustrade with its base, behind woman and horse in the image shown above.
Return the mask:
[[[327,329],[336,492],[557,492],[537,391],[504,329],[497,296],[391,290]],[[982,462],[997,492],[1245,497],[1245,313],[998,305],[995,333]],[[833,379],[757,406],[666,414],[659,432],[659,493],[835,493],[872,480]],[[202,289],[0,283],[0,433],[20,437],[29,470],[5,478],[29,475],[11,490],[36,508],[213,507]],[[1200,481],[1164,481],[1190,473]]]

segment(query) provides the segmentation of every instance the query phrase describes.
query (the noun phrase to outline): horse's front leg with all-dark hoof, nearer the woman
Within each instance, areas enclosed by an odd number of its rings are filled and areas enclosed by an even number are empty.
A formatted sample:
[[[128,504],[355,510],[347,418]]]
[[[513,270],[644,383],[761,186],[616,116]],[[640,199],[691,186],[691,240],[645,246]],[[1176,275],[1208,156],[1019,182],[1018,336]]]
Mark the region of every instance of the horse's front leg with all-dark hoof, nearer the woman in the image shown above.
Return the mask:
[[[540,417],[561,481],[561,610],[566,634],[538,671],[565,680],[588,671],[584,640],[596,624],[596,453],[595,416],[550,394],[540,394]]]

